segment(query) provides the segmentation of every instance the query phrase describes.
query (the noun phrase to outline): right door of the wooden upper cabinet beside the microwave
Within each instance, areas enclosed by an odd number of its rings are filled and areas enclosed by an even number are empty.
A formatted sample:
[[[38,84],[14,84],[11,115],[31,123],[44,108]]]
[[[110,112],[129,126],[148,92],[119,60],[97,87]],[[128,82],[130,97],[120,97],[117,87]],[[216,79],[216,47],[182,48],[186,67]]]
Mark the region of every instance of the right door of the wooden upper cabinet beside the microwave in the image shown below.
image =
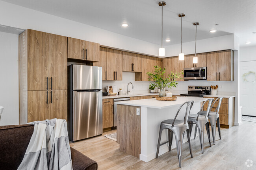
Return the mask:
[[[231,51],[219,51],[218,65],[219,73],[218,80],[231,81]]]

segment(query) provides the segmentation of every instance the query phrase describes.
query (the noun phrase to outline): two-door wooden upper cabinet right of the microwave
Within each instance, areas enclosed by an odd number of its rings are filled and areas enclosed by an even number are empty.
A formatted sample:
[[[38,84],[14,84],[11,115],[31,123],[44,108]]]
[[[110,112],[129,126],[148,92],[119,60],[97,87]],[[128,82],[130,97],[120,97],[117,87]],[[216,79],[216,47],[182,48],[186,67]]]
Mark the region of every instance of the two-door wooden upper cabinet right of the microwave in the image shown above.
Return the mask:
[[[207,80],[234,80],[234,51],[217,51],[207,53]]]

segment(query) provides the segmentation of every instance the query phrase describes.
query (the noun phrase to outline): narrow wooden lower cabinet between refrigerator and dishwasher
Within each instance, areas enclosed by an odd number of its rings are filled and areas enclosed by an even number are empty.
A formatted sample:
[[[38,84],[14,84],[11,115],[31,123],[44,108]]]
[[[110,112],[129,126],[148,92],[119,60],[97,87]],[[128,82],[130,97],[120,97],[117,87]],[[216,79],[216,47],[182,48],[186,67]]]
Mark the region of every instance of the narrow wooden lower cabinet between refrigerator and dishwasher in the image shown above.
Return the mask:
[[[102,128],[110,128],[114,126],[114,99],[102,100]]]

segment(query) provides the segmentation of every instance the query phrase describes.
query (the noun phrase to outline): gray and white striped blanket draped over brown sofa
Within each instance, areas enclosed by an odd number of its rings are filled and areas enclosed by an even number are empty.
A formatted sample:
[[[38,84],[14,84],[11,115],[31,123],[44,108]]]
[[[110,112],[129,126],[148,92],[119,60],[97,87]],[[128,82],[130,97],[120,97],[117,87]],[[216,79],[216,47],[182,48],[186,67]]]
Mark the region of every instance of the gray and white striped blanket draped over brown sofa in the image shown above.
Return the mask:
[[[67,121],[35,121],[34,132],[18,170],[72,170]]]

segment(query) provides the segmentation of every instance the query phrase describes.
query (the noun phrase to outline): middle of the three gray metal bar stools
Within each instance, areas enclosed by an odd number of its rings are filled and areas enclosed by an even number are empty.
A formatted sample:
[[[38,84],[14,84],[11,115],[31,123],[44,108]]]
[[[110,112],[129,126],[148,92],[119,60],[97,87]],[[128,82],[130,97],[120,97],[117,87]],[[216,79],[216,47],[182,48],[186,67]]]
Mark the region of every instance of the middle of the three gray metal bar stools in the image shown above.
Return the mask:
[[[205,115],[200,115],[200,113],[202,112],[202,110],[204,108],[204,104],[206,104],[206,102],[209,102],[206,114]],[[211,146],[211,137],[210,137],[210,127],[209,127],[209,121],[208,121],[208,114],[210,113],[210,108],[211,108],[211,103],[212,102],[213,102],[213,99],[206,100],[204,102],[204,104],[202,105],[200,111],[197,114],[190,114],[189,118],[188,118],[190,135],[191,135],[191,131],[192,131],[192,128],[193,128],[193,123],[196,124],[196,129],[198,128],[202,154],[204,153],[204,126],[206,126],[208,140],[209,140],[209,144]]]

